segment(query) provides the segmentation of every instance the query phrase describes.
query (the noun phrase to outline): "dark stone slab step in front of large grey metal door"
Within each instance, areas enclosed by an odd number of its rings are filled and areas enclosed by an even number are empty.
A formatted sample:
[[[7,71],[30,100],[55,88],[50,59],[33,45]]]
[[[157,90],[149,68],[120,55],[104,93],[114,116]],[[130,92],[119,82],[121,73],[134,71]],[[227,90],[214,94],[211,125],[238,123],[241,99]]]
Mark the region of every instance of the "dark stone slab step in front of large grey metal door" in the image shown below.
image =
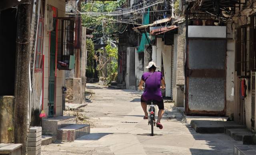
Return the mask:
[[[191,120],[197,133],[225,133],[225,127],[237,125],[234,121]]]

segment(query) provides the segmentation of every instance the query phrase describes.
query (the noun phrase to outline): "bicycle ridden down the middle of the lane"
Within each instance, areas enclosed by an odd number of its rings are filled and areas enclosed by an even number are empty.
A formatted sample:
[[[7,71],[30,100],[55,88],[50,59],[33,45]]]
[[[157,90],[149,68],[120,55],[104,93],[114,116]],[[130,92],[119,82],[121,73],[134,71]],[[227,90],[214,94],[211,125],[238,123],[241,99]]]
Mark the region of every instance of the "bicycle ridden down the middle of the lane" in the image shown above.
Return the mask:
[[[154,126],[156,126],[156,104],[157,101],[147,101],[148,105],[148,125],[151,125],[151,136],[154,136]]]

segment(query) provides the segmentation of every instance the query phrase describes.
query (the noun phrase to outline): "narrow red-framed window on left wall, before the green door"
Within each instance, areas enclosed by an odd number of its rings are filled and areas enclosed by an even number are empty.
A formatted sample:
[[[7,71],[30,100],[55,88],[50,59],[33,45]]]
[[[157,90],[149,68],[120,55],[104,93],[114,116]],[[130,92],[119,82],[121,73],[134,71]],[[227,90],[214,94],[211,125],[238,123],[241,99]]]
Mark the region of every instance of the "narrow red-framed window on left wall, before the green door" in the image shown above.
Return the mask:
[[[38,34],[36,43],[35,72],[42,72],[42,58],[44,50],[44,18],[40,17],[38,22]]]

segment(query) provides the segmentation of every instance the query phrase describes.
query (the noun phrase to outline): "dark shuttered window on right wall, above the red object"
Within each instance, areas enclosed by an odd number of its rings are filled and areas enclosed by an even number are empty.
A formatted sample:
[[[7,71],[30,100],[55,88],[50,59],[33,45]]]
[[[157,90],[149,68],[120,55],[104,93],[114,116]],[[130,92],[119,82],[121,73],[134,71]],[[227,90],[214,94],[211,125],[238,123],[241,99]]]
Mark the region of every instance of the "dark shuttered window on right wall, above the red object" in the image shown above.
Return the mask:
[[[236,40],[236,71],[237,76],[250,78],[249,31],[243,26],[237,29]]]

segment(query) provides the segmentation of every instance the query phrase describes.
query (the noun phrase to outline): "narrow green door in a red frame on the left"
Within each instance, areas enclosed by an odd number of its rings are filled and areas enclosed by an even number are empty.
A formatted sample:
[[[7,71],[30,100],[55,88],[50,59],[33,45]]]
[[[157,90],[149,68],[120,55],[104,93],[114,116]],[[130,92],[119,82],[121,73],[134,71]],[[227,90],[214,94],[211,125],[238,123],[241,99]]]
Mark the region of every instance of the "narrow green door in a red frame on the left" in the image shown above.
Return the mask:
[[[56,20],[53,21],[54,28]],[[50,33],[50,65],[49,65],[49,87],[48,87],[48,117],[54,115],[54,75],[55,75],[55,53],[56,53],[56,30]]]

